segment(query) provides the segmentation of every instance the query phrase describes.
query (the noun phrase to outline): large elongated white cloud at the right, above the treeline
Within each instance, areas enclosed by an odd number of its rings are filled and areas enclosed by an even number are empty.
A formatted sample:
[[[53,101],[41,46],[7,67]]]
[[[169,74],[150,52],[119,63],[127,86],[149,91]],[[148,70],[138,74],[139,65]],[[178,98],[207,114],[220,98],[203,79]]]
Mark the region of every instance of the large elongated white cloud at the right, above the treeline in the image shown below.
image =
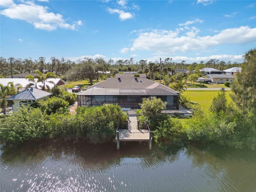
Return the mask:
[[[249,28],[248,26],[222,30],[214,36],[196,36],[197,31],[190,31],[186,36],[179,36],[179,33],[180,30],[152,30],[152,32],[140,33],[138,38],[133,40],[130,50],[176,53],[205,50],[221,44],[244,45],[256,42],[256,28]]]

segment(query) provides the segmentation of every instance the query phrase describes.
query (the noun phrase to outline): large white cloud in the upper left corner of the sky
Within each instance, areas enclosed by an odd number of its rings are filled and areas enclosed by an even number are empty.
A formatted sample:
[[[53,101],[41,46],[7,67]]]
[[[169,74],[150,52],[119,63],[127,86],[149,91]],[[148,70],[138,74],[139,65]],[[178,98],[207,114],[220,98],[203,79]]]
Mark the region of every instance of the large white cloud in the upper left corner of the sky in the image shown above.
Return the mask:
[[[1,5],[2,2],[1,1]],[[8,3],[6,3],[8,2]],[[76,30],[79,25],[82,25],[82,21],[76,21],[73,24],[68,24],[62,18],[61,14],[54,14],[53,12],[48,12],[47,6],[36,5],[32,1],[23,2],[20,4],[13,3],[8,0],[4,3],[6,9],[1,10],[1,14],[12,18],[24,20],[30,24],[33,24],[35,28],[42,30],[56,30],[58,27],[64,29]]]

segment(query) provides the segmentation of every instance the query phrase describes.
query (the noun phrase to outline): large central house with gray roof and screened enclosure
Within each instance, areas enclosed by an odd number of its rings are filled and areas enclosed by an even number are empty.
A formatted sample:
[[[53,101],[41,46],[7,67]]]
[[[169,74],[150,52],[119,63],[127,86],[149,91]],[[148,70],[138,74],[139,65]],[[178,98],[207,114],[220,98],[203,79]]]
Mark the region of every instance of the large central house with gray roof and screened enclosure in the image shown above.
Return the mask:
[[[166,101],[166,109],[179,109],[179,92],[147,78],[109,78],[94,84],[78,94],[78,106],[116,103],[136,109],[143,98],[152,96]]]

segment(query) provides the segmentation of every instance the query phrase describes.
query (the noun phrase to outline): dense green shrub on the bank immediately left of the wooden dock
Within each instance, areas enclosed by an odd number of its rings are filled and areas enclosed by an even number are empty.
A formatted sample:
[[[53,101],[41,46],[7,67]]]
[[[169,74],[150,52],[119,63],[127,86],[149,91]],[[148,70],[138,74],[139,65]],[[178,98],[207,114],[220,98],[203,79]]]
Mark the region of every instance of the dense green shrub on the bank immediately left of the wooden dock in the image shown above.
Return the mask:
[[[118,123],[126,120],[127,116],[122,112],[121,107],[114,104],[78,108],[74,117],[77,136],[86,135],[92,143],[113,139]]]

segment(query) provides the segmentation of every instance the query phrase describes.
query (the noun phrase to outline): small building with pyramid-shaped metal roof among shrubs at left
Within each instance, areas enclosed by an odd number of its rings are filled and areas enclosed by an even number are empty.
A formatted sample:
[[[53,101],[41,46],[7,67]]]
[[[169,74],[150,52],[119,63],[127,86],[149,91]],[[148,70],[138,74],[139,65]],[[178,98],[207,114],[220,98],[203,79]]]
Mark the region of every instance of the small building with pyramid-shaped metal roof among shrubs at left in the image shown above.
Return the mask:
[[[52,95],[52,93],[30,87],[18,92],[13,96],[10,96],[6,100],[14,102],[12,105],[12,110],[18,111],[22,104],[28,105],[36,100],[47,98],[50,95]]]

